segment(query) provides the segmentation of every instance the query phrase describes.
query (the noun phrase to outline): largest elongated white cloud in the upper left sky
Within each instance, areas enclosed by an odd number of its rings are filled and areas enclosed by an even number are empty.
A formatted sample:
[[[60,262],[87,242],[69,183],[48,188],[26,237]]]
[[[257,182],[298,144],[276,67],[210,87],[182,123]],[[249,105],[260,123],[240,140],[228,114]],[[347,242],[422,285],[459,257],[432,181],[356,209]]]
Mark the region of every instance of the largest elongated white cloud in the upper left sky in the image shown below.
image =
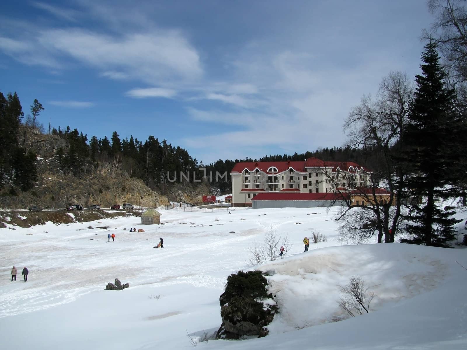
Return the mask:
[[[112,36],[80,28],[51,29],[42,31],[38,42],[106,72],[148,83],[169,77],[190,80],[203,73],[198,52],[176,30]]]

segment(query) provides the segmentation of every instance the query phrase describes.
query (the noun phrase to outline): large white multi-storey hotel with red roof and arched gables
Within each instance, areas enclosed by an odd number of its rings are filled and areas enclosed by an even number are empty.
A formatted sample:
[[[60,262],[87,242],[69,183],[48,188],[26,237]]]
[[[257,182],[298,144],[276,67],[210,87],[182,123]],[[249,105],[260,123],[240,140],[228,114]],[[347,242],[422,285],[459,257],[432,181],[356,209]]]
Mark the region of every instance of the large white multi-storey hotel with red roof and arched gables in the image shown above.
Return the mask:
[[[322,161],[318,158],[237,163],[230,173],[232,206],[253,206],[256,196],[259,196],[256,201],[268,198],[269,201],[304,200],[317,204],[301,203],[299,206],[340,203],[337,196],[355,187],[367,186],[370,174],[367,168],[351,161]]]

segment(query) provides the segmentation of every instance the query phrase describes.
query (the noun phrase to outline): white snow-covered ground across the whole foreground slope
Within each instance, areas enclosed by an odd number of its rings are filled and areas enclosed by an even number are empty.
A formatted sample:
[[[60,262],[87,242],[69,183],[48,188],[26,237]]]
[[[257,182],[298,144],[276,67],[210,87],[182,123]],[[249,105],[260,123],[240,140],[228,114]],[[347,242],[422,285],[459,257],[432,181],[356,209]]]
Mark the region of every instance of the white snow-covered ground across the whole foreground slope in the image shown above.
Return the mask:
[[[163,225],[120,217],[0,229],[0,349],[191,349],[187,333],[217,331],[226,277],[248,269],[248,246],[270,230],[292,246],[284,259],[257,267],[269,272],[280,307],[269,336],[198,348],[467,349],[467,270],[458,264],[467,267],[467,250],[345,245],[336,210],[161,209]],[[467,215],[459,215],[463,229]],[[327,242],[303,252],[313,229]],[[153,248],[159,237],[163,249]],[[357,275],[376,295],[371,312],[330,322],[342,316],[339,285]],[[130,287],[104,290],[115,278]]]

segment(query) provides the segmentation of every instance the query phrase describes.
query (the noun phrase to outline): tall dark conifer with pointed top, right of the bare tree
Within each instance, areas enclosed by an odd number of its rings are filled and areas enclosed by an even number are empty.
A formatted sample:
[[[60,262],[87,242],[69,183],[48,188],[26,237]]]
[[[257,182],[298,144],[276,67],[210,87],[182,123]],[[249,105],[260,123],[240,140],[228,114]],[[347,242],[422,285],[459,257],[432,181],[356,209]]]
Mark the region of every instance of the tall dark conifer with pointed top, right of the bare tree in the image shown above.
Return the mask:
[[[415,76],[417,90],[401,142],[401,166],[410,174],[406,188],[412,221],[407,225],[412,239],[403,241],[447,246],[446,242],[455,237],[453,225],[458,220],[452,218],[452,211],[442,210],[435,202],[436,198],[456,195],[451,183],[456,173],[453,164],[459,161],[456,154],[460,140],[453,135],[460,132],[461,122],[455,91],[448,90],[443,80],[445,72],[439,65],[436,44],[425,46],[422,60],[425,64],[420,65],[422,74]]]

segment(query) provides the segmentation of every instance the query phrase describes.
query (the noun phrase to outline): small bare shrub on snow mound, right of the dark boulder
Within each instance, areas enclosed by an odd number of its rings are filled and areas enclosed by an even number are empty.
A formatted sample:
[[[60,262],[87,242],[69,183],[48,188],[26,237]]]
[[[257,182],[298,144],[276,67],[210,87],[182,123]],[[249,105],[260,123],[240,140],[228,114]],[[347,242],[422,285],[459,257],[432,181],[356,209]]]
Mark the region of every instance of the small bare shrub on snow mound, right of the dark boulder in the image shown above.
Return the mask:
[[[363,315],[370,312],[370,303],[375,294],[368,292],[369,287],[365,286],[365,281],[359,277],[351,277],[345,286],[340,286],[340,292],[344,294],[340,297],[339,306],[347,312],[349,316]]]

